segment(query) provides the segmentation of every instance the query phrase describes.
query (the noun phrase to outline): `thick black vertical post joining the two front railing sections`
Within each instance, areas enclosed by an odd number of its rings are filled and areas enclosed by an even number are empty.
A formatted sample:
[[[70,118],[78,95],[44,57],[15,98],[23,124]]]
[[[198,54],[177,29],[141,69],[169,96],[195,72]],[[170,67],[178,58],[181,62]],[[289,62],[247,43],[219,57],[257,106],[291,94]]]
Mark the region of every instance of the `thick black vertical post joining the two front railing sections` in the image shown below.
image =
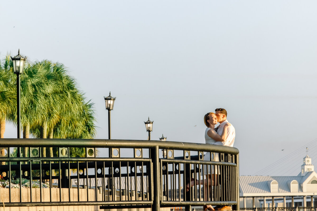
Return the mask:
[[[153,163],[153,204],[152,211],[160,210],[160,173],[162,172],[159,169],[159,146],[151,149],[151,158]]]

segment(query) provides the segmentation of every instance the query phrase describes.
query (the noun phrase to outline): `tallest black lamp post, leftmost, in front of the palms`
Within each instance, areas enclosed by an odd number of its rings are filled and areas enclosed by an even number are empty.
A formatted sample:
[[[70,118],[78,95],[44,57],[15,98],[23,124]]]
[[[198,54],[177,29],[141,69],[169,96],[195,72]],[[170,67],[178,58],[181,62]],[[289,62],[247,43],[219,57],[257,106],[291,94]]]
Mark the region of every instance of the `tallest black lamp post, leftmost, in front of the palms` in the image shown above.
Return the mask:
[[[27,57],[20,55],[20,49],[18,55],[11,56],[13,63],[13,72],[16,74],[16,116],[17,116],[17,138],[21,138],[21,114],[20,114],[20,74],[23,73],[24,63]],[[21,148],[18,147],[17,156],[20,157]]]

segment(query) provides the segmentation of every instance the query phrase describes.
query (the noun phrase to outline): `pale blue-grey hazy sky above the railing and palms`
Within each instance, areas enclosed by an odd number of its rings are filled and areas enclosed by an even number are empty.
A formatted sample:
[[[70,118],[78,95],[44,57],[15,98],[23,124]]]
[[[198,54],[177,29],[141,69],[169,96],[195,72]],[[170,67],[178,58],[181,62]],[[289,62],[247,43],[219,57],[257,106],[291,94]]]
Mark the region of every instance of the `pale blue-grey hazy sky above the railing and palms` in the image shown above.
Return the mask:
[[[297,175],[316,151],[316,1],[0,2],[0,57],[63,63],[95,103],[97,139],[111,91],[113,139],[146,140],[149,117],[152,140],[204,143],[204,115],[224,108],[240,175]]]

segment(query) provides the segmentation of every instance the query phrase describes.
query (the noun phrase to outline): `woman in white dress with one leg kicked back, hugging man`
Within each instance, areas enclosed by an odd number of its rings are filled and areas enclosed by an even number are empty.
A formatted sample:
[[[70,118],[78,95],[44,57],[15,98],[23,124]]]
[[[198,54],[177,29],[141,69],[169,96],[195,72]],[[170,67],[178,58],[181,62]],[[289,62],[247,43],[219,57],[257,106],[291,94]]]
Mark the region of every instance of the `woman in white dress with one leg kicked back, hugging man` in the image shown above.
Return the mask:
[[[218,123],[217,122],[217,116],[210,112],[207,113],[204,116],[204,123],[207,126],[206,130],[205,130],[205,141],[206,144],[216,144],[217,142],[219,143],[219,141],[223,142],[226,139],[227,136],[227,130],[226,127],[229,127],[231,124],[227,123],[224,125],[223,128],[223,133],[221,134],[221,136],[215,131],[215,125]],[[210,160],[210,152],[207,152],[204,155],[204,160]],[[214,161],[219,161],[219,154],[215,153],[215,157],[214,157]],[[208,185],[208,191],[210,193],[210,189],[211,189],[211,185],[214,186],[215,184],[217,185],[217,174],[218,174],[218,169],[217,168],[212,168],[212,171],[210,171],[210,165],[208,165],[208,174],[207,174],[207,166],[204,165],[204,175],[206,175],[206,177],[208,177],[207,179],[201,180],[200,184],[204,185]],[[219,167],[219,166],[218,166]],[[202,172],[203,173],[203,172]],[[220,172],[219,172],[220,173]],[[211,183],[211,178],[212,178],[212,183]],[[214,181],[214,178],[216,179],[216,181]],[[196,180],[196,184],[199,185],[199,181]],[[194,186],[195,185],[195,180],[192,179],[191,180],[191,184],[190,186]],[[190,189],[189,187],[189,183],[186,185],[186,191],[188,191]],[[204,200],[207,201],[207,188],[204,189],[205,193],[204,193]],[[204,205],[204,210],[214,210],[214,208],[211,205]]]

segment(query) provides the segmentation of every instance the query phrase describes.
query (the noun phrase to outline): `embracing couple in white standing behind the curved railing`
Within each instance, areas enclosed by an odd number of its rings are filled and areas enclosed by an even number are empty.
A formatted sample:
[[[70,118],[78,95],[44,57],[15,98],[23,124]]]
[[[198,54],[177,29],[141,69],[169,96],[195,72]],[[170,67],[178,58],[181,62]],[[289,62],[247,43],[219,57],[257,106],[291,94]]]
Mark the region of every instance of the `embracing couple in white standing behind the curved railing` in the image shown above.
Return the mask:
[[[218,127],[215,127],[217,123],[220,123]],[[209,112],[204,116],[204,123],[207,126],[205,130],[205,141],[206,144],[215,144],[215,145],[223,145],[223,146],[233,146],[235,141],[236,131],[235,128],[228,122],[227,120],[227,111],[226,109],[215,109],[215,113]],[[210,152],[207,152],[204,155],[204,160],[210,160]],[[219,161],[219,154],[215,153],[214,161]],[[220,172],[220,166],[215,168],[215,166],[210,169],[210,165],[208,167],[204,166],[204,177],[201,181],[195,181],[194,179],[191,180],[190,184],[187,184],[186,190],[190,187],[199,184],[204,184],[208,188],[205,188],[204,193],[204,201],[208,201],[208,195],[210,195],[211,186],[217,186],[218,184],[218,175],[223,174],[226,175],[225,171]],[[207,172],[208,170],[208,172]],[[211,171],[210,171],[211,170]],[[207,179],[208,178],[208,179]],[[214,181],[215,180],[215,181]],[[225,185],[222,186],[223,191],[226,190]],[[207,193],[209,192],[209,194]],[[204,210],[232,210],[231,206],[216,206],[212,207],[211,205],[204,205]]]

